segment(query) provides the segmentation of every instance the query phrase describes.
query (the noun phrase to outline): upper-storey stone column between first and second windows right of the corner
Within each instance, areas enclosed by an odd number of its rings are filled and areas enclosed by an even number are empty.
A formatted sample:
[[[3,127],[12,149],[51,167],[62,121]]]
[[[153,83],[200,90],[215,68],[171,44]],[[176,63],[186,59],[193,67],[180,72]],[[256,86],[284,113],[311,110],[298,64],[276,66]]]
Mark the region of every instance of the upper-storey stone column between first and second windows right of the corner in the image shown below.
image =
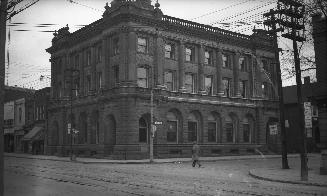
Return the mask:
[[[165,59],[165,51],[164,51],[164,41],[161,35],[157,35],[156,37],[156,47],[155,47],[155,55],[154,55],[154,65],[155,65],[155,85],[158,88],[164,87],[164,59]]]

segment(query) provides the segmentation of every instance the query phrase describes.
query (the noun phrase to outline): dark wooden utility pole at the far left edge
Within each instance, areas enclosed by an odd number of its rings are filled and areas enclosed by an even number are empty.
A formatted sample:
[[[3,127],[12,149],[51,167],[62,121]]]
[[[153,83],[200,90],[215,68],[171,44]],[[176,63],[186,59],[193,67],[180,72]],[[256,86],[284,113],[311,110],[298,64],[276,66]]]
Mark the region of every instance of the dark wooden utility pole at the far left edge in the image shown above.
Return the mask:
[[[3,104],[5,83],[5,51],[6,51],[6,21],[8,0],[1,0],[0,4],[0,196],[4,195],[4,154],[3,154]]]

